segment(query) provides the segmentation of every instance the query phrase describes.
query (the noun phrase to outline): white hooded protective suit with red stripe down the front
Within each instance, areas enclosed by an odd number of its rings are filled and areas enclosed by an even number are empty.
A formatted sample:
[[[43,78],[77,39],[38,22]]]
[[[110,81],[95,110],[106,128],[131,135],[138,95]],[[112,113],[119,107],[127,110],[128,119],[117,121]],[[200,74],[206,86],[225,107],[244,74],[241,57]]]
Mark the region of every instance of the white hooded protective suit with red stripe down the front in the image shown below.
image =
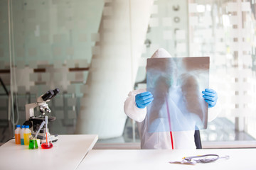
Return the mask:
[[[169,52],[159,49],[154,52],[154,57],[171,57]],[[135,96],[145,92],[146,89],[130,91],[124,102],[124,113],[137,122],[142,149],[196,149],[194,130],[178,132],[147,132],[146,108],[138,108]],[[213,108],[210,108],[212,110]],[[215,110],[215,109],[213,109]],[[208,120],[213,120],[218,112],[209,113]]]

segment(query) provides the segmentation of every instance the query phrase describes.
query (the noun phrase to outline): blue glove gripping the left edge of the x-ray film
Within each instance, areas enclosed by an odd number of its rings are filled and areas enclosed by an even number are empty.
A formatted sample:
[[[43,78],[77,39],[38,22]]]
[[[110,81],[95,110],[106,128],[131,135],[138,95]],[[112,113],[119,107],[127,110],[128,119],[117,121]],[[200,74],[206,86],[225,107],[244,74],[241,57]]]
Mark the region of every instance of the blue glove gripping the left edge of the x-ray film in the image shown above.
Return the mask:
[[[135,96],[135,103],[136,103],[138,108],[145,108],[153,100],[154,100],[153,95],[149,91],[146,91],[142,94],[137,94]]]

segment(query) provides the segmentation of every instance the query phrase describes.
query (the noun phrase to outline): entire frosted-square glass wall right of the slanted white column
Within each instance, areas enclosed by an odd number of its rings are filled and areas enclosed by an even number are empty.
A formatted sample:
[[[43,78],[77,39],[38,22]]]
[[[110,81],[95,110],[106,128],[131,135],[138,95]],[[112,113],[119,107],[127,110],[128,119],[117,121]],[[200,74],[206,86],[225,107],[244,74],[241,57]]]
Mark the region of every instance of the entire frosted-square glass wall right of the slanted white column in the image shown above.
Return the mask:
[[[209,111],[218,117],[201,130],[203,144],[255,144],[255,2],[161,0],[152,8],[142,58],[158,47],[173,57],[210,57],[210,88],[219,99]],[[145,86],[145,63],[136,89]]]

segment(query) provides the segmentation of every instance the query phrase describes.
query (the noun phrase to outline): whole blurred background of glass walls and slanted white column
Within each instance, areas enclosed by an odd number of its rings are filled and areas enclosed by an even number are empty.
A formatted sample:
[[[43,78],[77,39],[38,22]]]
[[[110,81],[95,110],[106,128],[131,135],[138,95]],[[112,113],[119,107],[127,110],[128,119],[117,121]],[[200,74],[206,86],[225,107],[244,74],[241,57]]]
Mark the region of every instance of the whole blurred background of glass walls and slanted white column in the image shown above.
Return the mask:
[[[254,0],[0,0],[0,143],[50,89],[52,134],[98,134],[96,147],[139,147],[124,114],[146,87],[146,59],[210,57],[218,118],[203,147],[247,147],[256,138]],[[35,114],[39,115],[38,108]]]

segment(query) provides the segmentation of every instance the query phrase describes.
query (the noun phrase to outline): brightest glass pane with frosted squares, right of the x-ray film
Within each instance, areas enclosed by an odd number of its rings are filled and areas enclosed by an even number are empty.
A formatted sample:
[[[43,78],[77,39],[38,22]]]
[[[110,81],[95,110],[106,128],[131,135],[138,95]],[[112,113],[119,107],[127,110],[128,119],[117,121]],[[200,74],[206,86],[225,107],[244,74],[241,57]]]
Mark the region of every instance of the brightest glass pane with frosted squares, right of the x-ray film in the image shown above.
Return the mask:
[[[210,56],[220,113],[202,140],[255,140],[255,2],[188,1],[190,55]]]

